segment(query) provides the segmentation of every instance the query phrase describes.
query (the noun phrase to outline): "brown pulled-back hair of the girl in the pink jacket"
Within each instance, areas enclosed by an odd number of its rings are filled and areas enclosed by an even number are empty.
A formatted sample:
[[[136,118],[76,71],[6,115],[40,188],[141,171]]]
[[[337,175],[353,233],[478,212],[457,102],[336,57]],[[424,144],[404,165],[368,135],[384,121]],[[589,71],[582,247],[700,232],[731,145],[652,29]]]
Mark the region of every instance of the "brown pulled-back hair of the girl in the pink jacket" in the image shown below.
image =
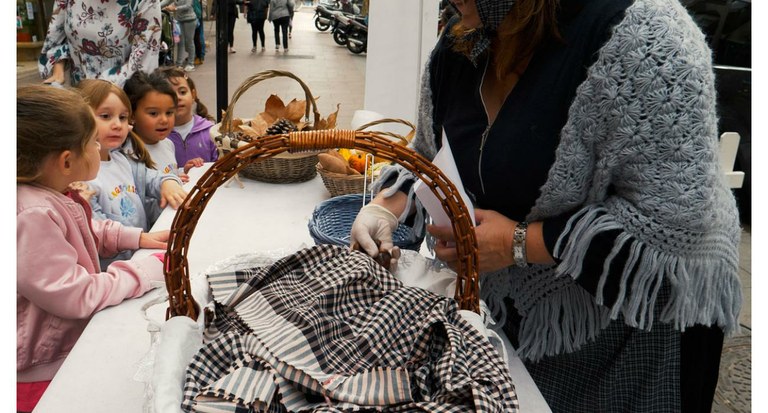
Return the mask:
[[[96,133],[93,111],[79,93],[51,86],[16,91],[16,182],[34,182],[49,155],[78,154]]]

